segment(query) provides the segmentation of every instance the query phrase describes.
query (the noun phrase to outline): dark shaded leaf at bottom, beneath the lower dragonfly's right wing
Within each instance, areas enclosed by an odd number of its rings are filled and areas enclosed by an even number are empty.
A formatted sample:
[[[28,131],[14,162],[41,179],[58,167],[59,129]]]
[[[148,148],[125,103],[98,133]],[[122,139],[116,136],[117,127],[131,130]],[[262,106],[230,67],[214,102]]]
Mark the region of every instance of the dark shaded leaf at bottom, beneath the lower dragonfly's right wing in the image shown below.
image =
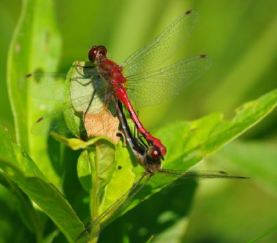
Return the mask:
[[[188,180],[152,195],[107,226],[100,235],[100,242],[111,242],[114,234],[116,242],[123,242],[126,238],[129,242],[146,242],[150,235],[154,236],[152,242],[179,242],[186,232],[196,190],[196,181]]]

